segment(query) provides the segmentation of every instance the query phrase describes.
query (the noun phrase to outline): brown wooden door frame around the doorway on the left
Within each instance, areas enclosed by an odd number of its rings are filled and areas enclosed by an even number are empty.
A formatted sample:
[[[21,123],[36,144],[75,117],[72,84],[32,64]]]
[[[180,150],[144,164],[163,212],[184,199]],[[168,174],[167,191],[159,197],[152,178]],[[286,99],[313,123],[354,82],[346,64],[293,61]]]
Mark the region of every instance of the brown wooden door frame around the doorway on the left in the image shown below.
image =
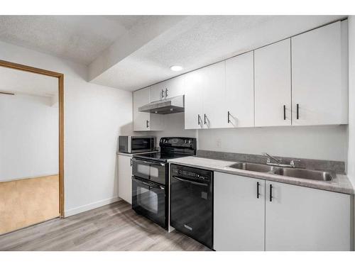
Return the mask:
[[[43,70],[28,65],[20,65],[9,61],[0,60],[1,67],[9,67],[14,70],[22,70],[45,76],[58,78],[58,98],[59,98],[59,216],[64,218],[64,74]]]

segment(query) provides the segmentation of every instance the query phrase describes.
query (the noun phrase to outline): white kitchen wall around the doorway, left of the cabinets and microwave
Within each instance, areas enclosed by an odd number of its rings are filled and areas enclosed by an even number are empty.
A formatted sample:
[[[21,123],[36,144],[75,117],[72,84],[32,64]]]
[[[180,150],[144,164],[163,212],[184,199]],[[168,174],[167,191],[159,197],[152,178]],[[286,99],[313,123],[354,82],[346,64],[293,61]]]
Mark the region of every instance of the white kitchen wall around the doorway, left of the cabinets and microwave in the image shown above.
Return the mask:
[[[132,93],[90,84],[87,67],[0,42],[0,59],[65,74],[65,215],[117,199],[116,138],[132,131]]]

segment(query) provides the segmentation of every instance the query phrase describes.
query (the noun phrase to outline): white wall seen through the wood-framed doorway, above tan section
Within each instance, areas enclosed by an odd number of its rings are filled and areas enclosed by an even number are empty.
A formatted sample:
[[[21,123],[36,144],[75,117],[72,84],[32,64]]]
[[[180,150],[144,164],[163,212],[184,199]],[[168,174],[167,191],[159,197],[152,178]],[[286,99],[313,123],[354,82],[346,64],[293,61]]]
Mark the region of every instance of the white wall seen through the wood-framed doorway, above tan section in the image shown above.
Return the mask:
[[[58,174],[58,106],[0,94],[0,182],[50,174]]]

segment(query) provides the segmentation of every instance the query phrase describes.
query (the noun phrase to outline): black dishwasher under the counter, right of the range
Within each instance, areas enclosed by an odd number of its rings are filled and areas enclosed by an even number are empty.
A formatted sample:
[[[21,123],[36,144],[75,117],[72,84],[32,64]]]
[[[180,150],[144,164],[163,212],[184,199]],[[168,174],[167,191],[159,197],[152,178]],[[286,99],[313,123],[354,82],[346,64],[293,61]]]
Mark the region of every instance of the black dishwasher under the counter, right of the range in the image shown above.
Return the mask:
[[[170,225],[213,247],[213,172],[170,167]]]

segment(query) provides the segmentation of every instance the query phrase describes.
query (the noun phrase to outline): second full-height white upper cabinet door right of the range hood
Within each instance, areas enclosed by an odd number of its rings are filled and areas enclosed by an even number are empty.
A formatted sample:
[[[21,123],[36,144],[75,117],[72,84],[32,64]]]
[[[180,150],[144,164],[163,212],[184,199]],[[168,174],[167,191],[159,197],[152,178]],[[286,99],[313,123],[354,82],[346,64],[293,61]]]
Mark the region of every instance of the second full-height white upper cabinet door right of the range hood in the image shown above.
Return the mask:
[[[204,128],[226,128],[226,76],[225,61],[201,69],[203,81]]]

